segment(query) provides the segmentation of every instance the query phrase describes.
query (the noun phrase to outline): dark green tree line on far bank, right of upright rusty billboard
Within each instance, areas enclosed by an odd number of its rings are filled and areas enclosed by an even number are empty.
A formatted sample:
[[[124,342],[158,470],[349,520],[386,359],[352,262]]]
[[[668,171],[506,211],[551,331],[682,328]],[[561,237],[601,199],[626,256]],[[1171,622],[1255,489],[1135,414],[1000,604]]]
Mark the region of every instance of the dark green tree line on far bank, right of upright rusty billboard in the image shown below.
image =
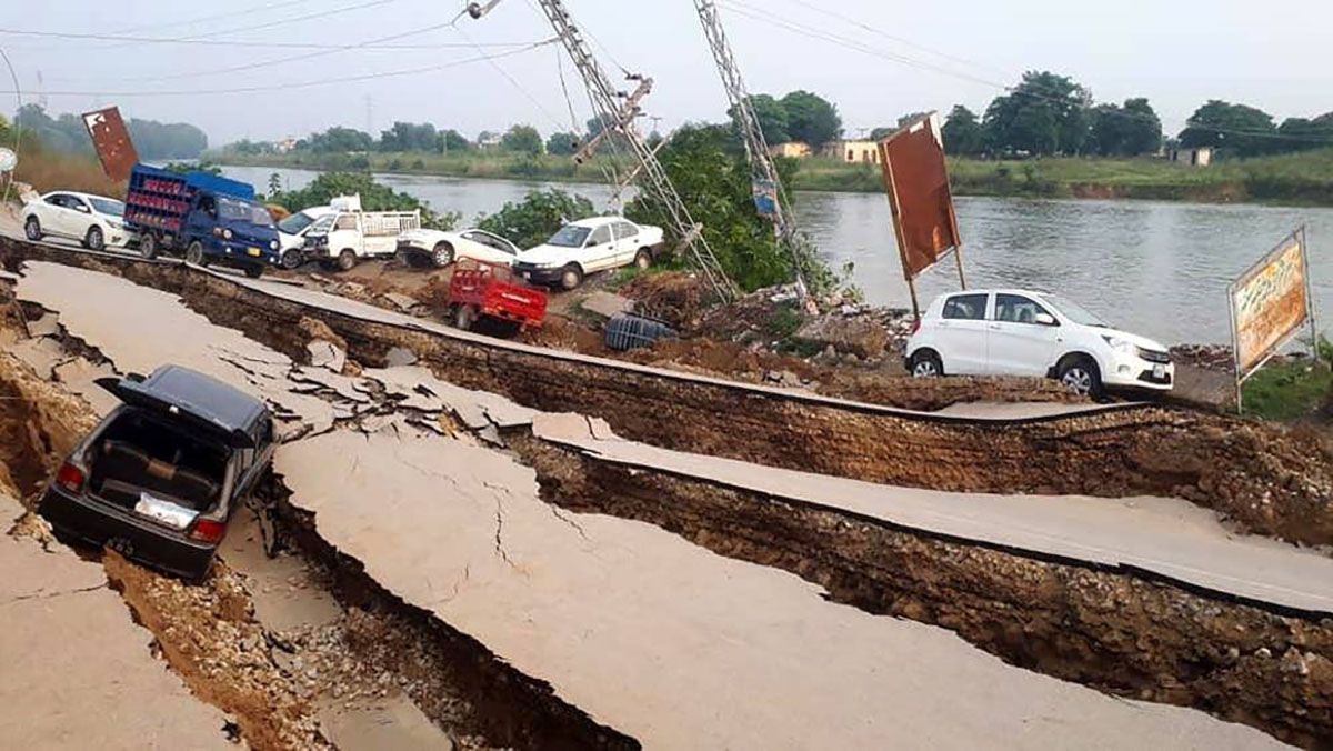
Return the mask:
[[[1210,100],[1176,139],[1145,97],[1094,104],[1092,92],[1049,71],[1024,73],[978,119],[957,105],[944,124],[944,144],[958,156],[1140,156],[1162,145],[1212,147],[1220,156],[1261,156],[1333,147],[1333,112],[1278,124],[1256,107]]]

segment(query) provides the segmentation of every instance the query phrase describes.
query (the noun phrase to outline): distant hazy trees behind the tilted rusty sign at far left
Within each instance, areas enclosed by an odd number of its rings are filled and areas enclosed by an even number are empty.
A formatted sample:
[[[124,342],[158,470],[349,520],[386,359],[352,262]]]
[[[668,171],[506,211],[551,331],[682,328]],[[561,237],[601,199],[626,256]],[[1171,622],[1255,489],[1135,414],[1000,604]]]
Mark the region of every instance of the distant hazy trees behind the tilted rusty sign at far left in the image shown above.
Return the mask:
[[[83,117],[65,112],[52,117],[40,104],[24,104],[15,121],[36,135],[44,147],[63,153],[92,153],[92,139]],[[188,123],[159,123],[131,117],[125,123],[135,151],[148,161],[197,159],[208,148],[204,131]]]

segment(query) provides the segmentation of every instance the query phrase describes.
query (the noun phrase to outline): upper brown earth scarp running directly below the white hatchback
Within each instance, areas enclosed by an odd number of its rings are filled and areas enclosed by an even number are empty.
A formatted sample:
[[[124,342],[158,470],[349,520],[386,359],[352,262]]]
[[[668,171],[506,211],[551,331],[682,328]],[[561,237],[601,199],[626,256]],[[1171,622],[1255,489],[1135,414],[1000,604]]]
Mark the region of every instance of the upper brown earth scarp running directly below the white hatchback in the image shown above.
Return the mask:
[[[25,257],[87,265],[87,256],[0,245]],[[181,267],[116,264],[133,281],[181,295],[219,325],[236,327],[293,359],[311,311]],[[237,315],[245,311],[247,315]],[[389,348],[416,352],[440,378],[551,412],[605,419],[617,435],[884,484],[978,492],[1185,496],[1245,531],[1333,543],[1333,460],[1280,427],[1138,408],[1017,424],[953,424],[870,407],[756,392],[515,351],[321,311],[361,363]]]

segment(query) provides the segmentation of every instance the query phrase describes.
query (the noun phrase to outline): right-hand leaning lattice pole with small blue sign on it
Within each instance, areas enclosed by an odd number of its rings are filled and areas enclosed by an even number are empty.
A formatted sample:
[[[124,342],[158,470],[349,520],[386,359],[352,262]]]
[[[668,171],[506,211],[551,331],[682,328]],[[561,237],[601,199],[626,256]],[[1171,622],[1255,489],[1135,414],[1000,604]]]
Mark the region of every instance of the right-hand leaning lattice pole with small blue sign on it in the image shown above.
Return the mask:
[[[708,37],[708,45],[713,51],[717,71],[722,75],[722,87],[726,89],[726,99],[732,104],[732,117],[736,119],[736,127],[740,129],[741,139],[745,143],[745,155],[750,163],[750,181],[754,185],[756,208],[773,221],[773,233],[777,236],[777,244],[790,253],[792,271],[796,275],[796,288],[801,299],[805,300],[809,292],[805,287],[805,273],[802,269],[809,260],[804,257],[808,245],[801,243],[800,233],[796,229],[796,217],[786,200],[786,192],[782,189],[777,165],[773,164],[773,156],[768,152],[768,140],[764,139],[764,128],[758,124],[758,115],[754,113],[754,107],[750,104],[749,91],[745,89],[745,81],[741,79],[740,65],[736,64],[736,57],[732,55],[732,45],[726,41],[726,32],[722,31],[722,21],[717,16],[717,5],[713,4],[713,0],[694,0],[694,8],[698,11],[700,23],[704,24],[704,36]]]

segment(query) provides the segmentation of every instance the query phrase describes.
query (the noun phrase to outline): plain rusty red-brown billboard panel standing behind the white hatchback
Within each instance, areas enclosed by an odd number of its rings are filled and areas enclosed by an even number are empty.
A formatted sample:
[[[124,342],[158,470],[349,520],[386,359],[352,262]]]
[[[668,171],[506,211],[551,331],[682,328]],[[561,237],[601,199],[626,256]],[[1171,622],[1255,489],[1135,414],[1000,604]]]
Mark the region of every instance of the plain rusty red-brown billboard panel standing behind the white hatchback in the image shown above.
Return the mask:
[[[912,281],[962,244],[934,112],[880,141],[902,276]],[[961,277],[961,263],[960,263]],[[914,295],[914,293],[913,293]]]

